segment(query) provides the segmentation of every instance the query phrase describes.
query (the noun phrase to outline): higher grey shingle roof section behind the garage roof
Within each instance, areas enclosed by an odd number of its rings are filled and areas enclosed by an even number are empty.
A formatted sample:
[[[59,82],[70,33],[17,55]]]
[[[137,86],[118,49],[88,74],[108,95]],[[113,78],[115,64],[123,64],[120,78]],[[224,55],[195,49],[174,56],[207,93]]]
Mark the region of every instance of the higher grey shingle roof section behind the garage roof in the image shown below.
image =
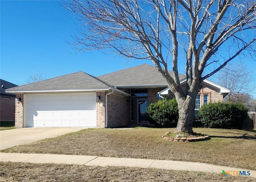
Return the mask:
[[[172,73],[169,71],[171,76]],[[127,68],[117,72],[112,72],[102,76],[98,76],[100,80],[107,82],[112,86],[146,86],[146,85],[165,85],[166,82],[162,75],[157,71],[156,67],[149,64],[142,64]],[[180,80],[185,78],[185,75],[179,74]]]

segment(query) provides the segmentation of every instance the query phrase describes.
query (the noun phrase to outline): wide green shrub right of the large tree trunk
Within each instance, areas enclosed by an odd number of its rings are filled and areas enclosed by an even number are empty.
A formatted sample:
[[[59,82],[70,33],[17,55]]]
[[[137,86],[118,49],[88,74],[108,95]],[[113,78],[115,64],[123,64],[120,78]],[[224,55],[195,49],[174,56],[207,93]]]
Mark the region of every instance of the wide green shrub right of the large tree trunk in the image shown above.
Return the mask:
[[[199,109],[199,117],[204,126],[210,128],[244,127],[247,118],[247,108],[242,103],[209,103]]]

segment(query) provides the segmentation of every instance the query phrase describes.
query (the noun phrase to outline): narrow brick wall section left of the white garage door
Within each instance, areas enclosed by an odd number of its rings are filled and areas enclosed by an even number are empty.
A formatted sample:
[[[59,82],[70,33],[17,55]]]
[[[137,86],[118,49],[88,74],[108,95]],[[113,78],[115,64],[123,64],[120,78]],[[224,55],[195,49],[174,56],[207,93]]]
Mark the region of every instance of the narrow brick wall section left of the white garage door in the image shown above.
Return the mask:
[[[18,98],[21,98],[21,101],[18,101]],[[15,99],[15,127],[23,127],[23,106],[24,106],[24,94],[16,94]]]

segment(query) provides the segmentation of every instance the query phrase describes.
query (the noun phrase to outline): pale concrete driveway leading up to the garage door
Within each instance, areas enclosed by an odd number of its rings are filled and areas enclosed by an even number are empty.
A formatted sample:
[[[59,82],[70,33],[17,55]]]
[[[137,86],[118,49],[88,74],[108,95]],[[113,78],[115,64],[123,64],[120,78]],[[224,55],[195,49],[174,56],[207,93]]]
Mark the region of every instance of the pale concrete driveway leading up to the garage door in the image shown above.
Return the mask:
[[[28,144],[44,138],[77,132],[86,128],[56,127],[56,128],[17,128],[0,131],[0,150],[16,145]]]

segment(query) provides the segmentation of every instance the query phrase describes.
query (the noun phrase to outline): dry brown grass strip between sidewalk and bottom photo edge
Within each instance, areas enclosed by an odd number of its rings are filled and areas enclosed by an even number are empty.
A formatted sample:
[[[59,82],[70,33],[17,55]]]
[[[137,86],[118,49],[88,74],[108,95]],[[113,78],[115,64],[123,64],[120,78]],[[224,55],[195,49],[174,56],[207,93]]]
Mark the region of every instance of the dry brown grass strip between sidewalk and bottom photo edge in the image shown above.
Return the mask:
[[[128,167],[0,162],[2,182],[256,182],[244,176]]]

